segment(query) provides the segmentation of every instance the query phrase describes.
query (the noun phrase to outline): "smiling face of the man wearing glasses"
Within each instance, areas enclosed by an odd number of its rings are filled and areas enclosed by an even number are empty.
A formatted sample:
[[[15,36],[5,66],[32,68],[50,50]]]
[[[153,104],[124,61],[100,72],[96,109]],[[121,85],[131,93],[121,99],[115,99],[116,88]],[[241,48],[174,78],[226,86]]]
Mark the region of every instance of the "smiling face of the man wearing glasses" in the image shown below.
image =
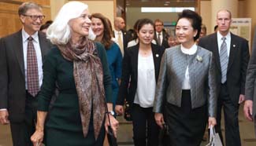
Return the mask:
[[[43,23],[43,20],[39,18],[32,20],[31,16],[43,16],[43,13],[39,9],[28,9],[24,15],[20,15],[20,21],[28,35],[33,35],[36,31],[39,31]]]

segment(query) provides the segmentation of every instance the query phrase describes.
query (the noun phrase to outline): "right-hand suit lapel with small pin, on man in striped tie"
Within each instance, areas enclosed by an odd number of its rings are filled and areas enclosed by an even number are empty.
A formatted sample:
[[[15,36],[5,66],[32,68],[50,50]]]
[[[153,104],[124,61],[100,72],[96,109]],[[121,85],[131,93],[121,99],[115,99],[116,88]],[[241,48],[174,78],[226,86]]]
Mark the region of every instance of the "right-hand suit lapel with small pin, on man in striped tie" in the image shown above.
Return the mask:
[[[236,53],[237,53],[236,38],[234,38],[232,33],[230,35],[231,35],[231,42],[230,42],[230,53],[229,53],[229,57],[228,57],[228,70],[231,68],[232,63],[234,62],[234,59],[235,59]]]

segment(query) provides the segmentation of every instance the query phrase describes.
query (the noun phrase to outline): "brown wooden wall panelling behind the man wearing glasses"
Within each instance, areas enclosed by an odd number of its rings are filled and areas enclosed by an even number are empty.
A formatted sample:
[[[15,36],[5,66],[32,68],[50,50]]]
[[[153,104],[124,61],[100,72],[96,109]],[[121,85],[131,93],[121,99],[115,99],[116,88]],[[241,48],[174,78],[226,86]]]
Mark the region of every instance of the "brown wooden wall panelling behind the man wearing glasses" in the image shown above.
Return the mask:
[[[28,1],[29,0],[0,0],[0,38],[20,30],[22,24],[20,23],[20,19],[17,13],[18,7],[22,2]],[[42,5],[43,14],[46,16],[44,22],[46,20],[51,20],[50,0],[34,0],[33,2]]]

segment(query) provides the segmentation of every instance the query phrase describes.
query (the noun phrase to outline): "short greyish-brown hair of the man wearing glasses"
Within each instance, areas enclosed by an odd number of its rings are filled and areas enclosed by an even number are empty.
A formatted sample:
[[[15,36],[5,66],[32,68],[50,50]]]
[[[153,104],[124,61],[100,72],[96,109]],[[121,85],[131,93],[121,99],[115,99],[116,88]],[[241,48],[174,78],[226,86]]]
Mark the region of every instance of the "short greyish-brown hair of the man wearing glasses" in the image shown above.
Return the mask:
[[[18,9],[19,16],[26,14],[28,9],[38,9],[42,11],[42,7],[35,2],[23,2]]]

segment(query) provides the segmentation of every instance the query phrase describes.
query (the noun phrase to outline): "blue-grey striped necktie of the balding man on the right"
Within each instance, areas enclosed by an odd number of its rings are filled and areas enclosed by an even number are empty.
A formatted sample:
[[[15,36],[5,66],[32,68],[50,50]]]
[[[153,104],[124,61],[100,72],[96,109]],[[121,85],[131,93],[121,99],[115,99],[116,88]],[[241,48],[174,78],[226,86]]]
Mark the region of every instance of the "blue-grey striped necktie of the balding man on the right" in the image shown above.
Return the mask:
[[[226,38],[221,38],[223,40],[220,50],[220,61],[221,61],[221,83],[227,80],[227,69],[228,69],[228,52]]]

